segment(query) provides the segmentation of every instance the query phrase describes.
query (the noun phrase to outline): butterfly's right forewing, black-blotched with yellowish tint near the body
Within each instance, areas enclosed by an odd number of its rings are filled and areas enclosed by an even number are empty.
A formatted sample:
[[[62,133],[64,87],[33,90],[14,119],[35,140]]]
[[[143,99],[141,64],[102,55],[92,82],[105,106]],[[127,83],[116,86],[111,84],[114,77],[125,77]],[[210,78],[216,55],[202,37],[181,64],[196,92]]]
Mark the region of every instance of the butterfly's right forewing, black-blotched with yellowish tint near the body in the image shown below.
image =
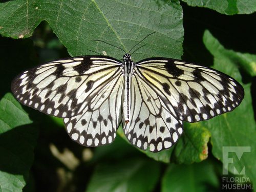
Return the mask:
[[[232,111],[244,97],[243,87],[228,75],[176,59],[141,60],[134,75],[145,79],[168,112],[188,122]]]

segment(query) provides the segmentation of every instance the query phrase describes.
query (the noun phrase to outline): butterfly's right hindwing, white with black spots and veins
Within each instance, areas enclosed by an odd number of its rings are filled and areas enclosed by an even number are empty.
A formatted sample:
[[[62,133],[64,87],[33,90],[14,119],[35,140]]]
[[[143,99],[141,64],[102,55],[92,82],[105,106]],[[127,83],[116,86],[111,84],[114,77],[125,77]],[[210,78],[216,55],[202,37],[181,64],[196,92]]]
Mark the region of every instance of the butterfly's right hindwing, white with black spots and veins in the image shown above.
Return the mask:
[[[142,150],[159,152],[171,147],[182,134],[182,121],[166,108],[147,81],[136,74],[131,82],[131,120],[124,122],[127,139]]]

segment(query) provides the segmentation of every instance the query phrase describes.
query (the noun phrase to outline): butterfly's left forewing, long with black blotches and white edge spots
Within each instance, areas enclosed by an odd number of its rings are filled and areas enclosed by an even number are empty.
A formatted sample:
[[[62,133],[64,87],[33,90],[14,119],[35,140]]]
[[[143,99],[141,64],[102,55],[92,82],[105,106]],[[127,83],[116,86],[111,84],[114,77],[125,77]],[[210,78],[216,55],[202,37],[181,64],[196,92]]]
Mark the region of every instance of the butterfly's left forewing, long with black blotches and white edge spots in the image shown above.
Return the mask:
[[[18,75],[11,85],[16,99],[56,117],[82,114],[106,84],[122,73],[112,57],[81,56],[45,63]]]

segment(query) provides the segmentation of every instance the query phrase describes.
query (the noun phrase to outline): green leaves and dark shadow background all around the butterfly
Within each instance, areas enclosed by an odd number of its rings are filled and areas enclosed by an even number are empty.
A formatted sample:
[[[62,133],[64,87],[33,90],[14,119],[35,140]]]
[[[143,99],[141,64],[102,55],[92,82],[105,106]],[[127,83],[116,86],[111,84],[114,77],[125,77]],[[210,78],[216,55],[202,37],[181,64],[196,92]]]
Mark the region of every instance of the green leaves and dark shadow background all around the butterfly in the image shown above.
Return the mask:
[[[196,7],[197,6],[197,7]],[[250,146],[240,172],[256,182],[256,1],[2,1],[0,3],[0,191],[216,191],[222,147]],[[121,58],[140,39],[135,61],[165,56],[211,66],[245,89],[231,113],[185,123],[170,150],[141,152],[125,141],[86,148],[71,141],[61,119],[20,105],[11,80],[40,63],[90,50]],[[230,175],[234,174],[230,169]],[[225,176],[226,177],[226,176]]]

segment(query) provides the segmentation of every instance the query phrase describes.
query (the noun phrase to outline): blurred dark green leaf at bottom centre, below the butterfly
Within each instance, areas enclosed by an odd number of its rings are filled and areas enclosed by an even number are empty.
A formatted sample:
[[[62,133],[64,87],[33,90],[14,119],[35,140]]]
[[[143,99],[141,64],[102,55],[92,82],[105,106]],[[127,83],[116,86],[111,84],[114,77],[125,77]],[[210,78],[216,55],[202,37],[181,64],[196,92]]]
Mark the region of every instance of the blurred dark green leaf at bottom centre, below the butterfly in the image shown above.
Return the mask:
[[[105,162],[96,167],[87,191],[152,191],[159,175],[160,164],[148,159]]]

